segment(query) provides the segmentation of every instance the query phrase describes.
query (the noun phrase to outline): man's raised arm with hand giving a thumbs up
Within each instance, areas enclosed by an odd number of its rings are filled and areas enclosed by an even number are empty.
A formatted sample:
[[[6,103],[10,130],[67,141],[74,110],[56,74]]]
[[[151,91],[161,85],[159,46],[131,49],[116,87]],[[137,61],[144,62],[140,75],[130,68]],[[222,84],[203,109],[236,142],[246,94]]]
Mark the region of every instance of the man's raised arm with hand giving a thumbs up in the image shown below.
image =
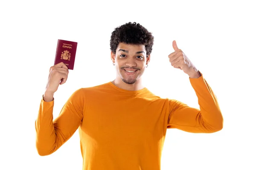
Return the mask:
[[[221,130],[223,117],[217,98],[189,58],[172,42],[175,52],[171,53],[169,61],[174,68],[179,68],[189,76],[190,83],[198,97],[200,109],[191,108],[177,100],[169,100],[170,113],[168,128],[177,128],[192,133],[212,133]]]

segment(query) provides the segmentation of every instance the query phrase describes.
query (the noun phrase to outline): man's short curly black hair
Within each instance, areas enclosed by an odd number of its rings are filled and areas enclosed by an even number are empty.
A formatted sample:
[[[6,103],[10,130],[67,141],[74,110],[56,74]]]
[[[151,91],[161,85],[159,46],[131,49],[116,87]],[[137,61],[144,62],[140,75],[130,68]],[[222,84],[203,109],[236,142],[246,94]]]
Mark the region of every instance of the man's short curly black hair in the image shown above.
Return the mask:
[[[139,23],[125,23],[115,28],[111,34],[110,49],[116,54],[116,48],[120,42],[126,44],[145,45],[147,57],[152,52],[154,37],[152,33]]]

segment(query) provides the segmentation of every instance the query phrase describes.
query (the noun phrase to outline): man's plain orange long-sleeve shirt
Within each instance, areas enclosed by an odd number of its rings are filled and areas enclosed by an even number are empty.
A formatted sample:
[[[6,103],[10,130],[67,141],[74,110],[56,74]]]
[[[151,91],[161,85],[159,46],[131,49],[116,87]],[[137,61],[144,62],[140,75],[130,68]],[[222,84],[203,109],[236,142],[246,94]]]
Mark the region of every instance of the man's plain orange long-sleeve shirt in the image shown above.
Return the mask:
[[[38,153],[55,152],[79,128],[83,170],[160,170],[167,128],[192,133],[222,129],[217,99],[203,75],[189,80],[200,110],[147,88],[127,91],[111,82],[75,91],[55,120],[54,100],[42,99],[35,121]]]

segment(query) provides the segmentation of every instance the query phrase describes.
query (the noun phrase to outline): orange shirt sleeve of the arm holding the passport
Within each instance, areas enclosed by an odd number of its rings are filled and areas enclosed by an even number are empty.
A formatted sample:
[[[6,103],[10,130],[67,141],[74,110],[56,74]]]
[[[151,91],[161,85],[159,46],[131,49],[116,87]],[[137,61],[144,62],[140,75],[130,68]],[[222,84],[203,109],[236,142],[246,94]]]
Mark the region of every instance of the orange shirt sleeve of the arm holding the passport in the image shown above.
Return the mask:
[[[55,152],[78,129],[83,119],[84,104],[80,91],[81,89],[70,96],[55,120],[52,115],[54,99],[51,102],[41,99],[35,120],[36,148],[39,155],[46,156]]]

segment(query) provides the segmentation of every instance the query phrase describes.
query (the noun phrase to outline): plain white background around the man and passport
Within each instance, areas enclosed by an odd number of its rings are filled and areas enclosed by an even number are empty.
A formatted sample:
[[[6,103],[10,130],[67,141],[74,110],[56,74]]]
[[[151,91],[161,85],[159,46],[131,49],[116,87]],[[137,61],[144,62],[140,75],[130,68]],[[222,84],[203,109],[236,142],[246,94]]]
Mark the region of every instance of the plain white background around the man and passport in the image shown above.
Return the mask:
[[[78,46],[75,68],[55,94],[54,118],[76,89],[115,78],[111,32],[131,21],[155,37],[147,87],[199,108],[188,77],[169,63],[176,40],[204,74],[224,117],[217,133],[168,130],[162,170],[255,170],[255,7],[253,0],[1,1],[0,169],[81,170],[78,131],[49,156],[35,148],[35,119],[57,40]]]

